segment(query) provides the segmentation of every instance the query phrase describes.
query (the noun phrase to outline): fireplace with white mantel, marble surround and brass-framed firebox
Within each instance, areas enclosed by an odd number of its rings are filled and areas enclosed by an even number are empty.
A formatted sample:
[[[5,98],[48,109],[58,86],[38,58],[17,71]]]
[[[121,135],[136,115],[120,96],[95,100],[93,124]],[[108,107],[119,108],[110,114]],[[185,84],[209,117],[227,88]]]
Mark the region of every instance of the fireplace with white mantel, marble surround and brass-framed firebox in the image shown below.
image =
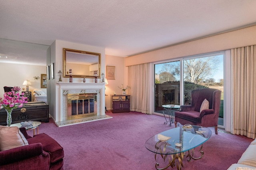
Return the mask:
[[[59,114],[56,122],[70,120],[70,116],[105,115],[105,83],[58,82]]]

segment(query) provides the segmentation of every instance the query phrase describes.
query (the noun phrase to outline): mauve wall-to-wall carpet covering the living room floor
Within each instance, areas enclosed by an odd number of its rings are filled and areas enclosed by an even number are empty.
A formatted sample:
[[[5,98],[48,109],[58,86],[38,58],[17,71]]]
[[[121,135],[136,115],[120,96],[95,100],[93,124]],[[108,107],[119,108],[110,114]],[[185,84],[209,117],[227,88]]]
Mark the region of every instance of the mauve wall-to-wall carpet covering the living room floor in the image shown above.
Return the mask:
[[[66,127],[57,127],[50,119],[39,126],[39,133],[48,134],[64,148],[64,170],[155,170],[154,153],[144,144],[174,124],[169,127],[162,116],[133,111],[106,114],[113,118]],[[204,156],[190,162],[184,157],[182,170],[226,170],[253,141],[222,132],[216,135],[210,129],[212,136],[203,144]]]

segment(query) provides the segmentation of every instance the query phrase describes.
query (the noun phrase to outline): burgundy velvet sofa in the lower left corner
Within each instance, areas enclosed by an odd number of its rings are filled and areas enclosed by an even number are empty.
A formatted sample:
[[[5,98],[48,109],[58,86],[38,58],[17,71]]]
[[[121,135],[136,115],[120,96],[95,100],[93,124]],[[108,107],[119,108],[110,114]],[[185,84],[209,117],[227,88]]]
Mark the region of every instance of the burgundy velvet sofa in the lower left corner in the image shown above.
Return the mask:
[[[63,148],[45,133],[31,137],[20,131],[29,145],[0,151],[1,170],[63,170]]]

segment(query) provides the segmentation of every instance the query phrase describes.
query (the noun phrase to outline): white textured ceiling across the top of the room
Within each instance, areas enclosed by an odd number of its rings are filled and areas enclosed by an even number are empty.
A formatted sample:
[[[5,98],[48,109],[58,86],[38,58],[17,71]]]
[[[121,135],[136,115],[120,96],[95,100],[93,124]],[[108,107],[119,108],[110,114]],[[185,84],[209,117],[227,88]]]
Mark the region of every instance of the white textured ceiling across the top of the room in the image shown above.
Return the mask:
[[[0,0],[0,4],[2,39],[42,45],[58,39],[105,47],[107,55],[120,57],[256,24],[256,0]]]

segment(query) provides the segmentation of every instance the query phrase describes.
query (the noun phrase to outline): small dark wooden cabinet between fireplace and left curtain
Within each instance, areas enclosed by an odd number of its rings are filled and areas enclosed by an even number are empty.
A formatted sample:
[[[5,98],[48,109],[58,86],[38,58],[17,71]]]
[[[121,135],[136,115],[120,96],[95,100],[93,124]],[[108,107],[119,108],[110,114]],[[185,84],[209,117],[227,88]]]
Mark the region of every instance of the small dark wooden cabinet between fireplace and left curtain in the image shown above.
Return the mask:
[[[130,112],[130,95],[111,95],[112,113]]]

